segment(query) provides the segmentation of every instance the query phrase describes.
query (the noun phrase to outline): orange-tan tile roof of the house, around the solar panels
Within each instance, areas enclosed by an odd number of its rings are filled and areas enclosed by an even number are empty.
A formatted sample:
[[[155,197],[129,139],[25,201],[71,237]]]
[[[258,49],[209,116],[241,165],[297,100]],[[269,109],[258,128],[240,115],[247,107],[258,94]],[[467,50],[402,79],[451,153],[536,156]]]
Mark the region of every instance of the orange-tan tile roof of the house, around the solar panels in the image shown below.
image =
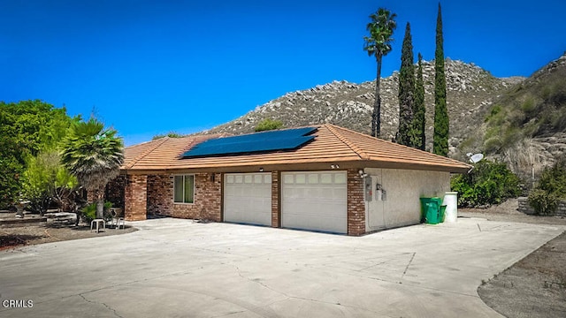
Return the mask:
[[[356,168],[383,167],[417,170],[465,172],[471,166],[454,159],[380,140],[336,125],[313,125],[316,138],[292,151],[249,155],[225,155],[182,159],[181,155],[199,142],[225,135],[197,135],[183,138],[164,137],[125,149],[122,170],[226,170],[245,167],[280,166],[289,164],[314,165],[348,163]]]

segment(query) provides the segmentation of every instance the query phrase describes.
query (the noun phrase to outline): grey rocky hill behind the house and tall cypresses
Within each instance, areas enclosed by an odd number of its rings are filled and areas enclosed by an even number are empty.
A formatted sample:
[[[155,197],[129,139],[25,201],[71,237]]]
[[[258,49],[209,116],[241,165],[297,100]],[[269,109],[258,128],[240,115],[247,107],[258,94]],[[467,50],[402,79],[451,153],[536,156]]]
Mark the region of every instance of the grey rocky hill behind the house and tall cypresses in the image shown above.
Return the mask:
[[[446,61],[447,108],[450,117],[450,155],[462,157],[458,146],[483,123],[493,100],[524,78],[498,79],[474,64]],[[434,111],[434,63],[424,61],[427,148],[432,148]],[[381,80],[381,135],[391,139],[399,125],[397,89],[399,74]],[[370,133],[375,82],[346,80],[287,93],[256,107],[242,117],[206,133],[250,133],[264,118],[279,119],[285,127],[332,123],[361,133]]]

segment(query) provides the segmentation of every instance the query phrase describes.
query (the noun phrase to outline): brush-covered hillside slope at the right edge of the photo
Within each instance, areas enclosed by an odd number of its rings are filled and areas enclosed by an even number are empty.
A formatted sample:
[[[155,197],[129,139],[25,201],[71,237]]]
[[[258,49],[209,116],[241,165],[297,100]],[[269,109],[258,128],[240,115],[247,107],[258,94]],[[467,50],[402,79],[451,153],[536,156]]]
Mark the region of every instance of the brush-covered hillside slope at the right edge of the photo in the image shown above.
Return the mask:
[[[566,153],[566,52],[495,98],[476,132],[463,140],[471,148],[509,163],[525,180]]]

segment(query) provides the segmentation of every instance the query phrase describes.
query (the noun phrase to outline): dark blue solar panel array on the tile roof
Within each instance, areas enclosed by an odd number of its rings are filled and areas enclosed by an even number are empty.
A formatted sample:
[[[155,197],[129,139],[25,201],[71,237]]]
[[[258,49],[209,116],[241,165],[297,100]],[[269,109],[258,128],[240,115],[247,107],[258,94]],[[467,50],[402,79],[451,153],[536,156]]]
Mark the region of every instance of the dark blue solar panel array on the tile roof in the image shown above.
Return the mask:
[[[207,155],[235,155],[292,150],[302,147],[310,140],[314,140],[315,136],[312,133],[316,131],[317,127],[304,127],[221,137],[206,140],[195,145],[195,147],[184,153],[182,157],[194,158]]]

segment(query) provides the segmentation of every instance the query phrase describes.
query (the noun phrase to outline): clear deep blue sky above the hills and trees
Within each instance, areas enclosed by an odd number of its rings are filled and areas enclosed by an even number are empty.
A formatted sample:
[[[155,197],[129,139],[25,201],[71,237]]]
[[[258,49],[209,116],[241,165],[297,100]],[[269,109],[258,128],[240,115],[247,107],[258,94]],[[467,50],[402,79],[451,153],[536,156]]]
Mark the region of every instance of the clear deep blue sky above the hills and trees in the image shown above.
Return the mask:
[[[126,145],[195,133],[334,79],[375,79],[368,16],[397,13],[382,76],[401,64],[406,23],[431,60],[438,1],[0,0],[0,101],[93,108]],[[442,2],[445,56],[529,76],[566,50],[566,1]]]

